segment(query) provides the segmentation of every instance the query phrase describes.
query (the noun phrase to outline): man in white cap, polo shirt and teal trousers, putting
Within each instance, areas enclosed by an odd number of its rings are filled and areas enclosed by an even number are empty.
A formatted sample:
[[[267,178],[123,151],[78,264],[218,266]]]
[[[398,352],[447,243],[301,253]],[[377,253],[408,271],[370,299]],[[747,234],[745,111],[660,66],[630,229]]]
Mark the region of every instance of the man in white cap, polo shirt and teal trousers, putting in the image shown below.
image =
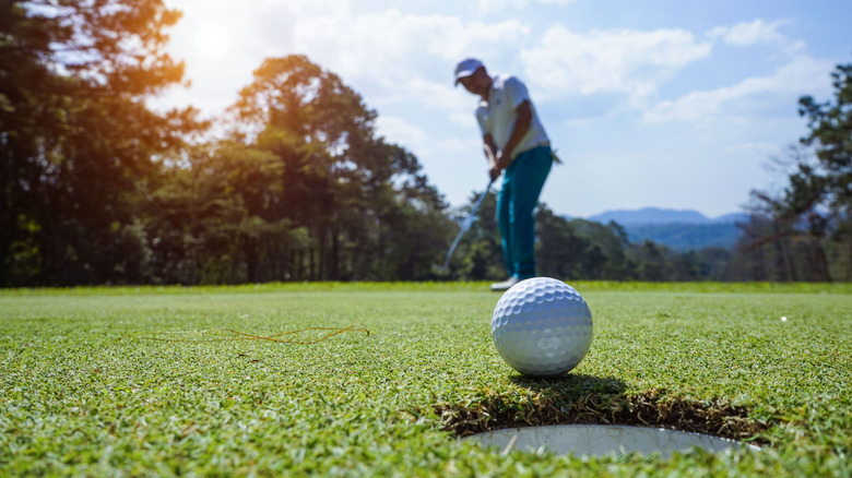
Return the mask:
[[[492,284],[492,290],[506,290],[535,276],[533,211],[556,156],[520,80],[490,76],[482,61],[469,58],[455,67],[455,85],[459,83],[481,98],[476,120],[488,174],[492,180],[504,174],[497,196],[497,223],[509,278]]]

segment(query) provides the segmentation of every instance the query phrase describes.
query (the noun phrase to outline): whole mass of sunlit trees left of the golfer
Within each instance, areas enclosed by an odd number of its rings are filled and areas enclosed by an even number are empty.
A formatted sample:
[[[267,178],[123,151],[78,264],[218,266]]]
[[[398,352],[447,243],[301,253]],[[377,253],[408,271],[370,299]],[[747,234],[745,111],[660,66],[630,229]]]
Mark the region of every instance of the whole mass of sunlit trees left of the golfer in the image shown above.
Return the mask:
[[[0,285],[431,276],[451,234],[442,198],[333,73],[267,60],[232,138],[189,147],[193,110],[145,106],[182,77],[164,52],[179,13],[0,9]]]

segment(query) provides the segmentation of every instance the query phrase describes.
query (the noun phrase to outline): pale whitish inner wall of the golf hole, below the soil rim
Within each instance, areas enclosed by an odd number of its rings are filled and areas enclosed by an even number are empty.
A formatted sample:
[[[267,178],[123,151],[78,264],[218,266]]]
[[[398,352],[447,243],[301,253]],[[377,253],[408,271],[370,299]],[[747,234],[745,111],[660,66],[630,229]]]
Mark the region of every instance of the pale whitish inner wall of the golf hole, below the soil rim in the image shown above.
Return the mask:
[[[641,453],[659,453],[668,458],[676,452],[701,449],[711,453],[729,450],[760,450],[734,440],[644,427],[618,425],[552,425],[543,427],[510,428],[476,433],[461,439],[480,443],[485,447],[499,449],[504,454],[511,451],[557,455],[572,453],[575,456],[601,456]]]

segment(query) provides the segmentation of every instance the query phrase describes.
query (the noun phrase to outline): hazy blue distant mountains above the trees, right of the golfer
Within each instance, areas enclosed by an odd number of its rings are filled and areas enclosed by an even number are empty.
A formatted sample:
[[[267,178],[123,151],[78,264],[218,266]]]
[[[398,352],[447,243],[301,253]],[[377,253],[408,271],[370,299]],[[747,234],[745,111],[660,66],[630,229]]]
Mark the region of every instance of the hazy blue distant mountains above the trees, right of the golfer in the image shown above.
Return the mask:
[[[731,213],[710,218],[698,211],[646,207],[636,211],[607,211],[588,219],[601,224],[618,223],[634,243],[651,240],[677,251],[687,251],[733,248],[742,236],[736,223],[746,222],[748,216]]]

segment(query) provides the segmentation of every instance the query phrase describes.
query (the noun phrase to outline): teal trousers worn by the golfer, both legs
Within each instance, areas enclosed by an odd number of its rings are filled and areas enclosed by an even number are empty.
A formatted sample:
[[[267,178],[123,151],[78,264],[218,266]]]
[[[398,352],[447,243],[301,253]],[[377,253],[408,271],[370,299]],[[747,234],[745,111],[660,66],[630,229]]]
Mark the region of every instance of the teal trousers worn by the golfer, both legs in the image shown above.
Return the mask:
[[[502,189],[497,196],[497,223],[510,276],[535,277],[533,213],[552,166],[551,147],[540,146],[518,155],[504,171]]]

